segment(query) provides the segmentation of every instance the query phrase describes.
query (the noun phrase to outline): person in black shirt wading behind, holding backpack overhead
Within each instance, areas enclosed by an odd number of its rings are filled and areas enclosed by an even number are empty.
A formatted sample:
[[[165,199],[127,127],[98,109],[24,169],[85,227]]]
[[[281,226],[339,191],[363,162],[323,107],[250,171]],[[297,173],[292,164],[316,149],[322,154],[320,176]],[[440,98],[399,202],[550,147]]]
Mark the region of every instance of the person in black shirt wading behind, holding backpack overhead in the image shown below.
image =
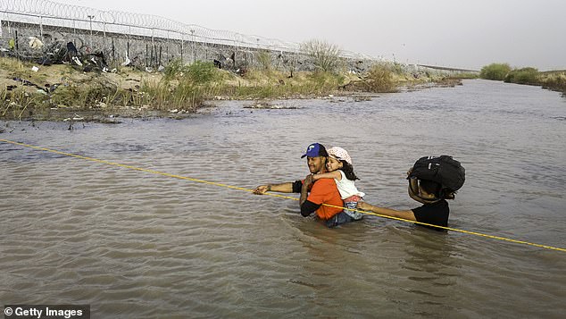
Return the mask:
[[[411,172],[411,171],[410,171]],[[403,218],[410,221],[425,222],[438,226],[448,226],[448,207],[447,199],[454,199],[453,192],[445,192],[442,186],[432,180],[418,180],[415,177],[409,179],[409,196],[422,203],[423,205],[408,211],[399,211],[391,208],[372,206],[360,202],[358,208],[377,214]],[[433,227],[437,231],[441,228]]]

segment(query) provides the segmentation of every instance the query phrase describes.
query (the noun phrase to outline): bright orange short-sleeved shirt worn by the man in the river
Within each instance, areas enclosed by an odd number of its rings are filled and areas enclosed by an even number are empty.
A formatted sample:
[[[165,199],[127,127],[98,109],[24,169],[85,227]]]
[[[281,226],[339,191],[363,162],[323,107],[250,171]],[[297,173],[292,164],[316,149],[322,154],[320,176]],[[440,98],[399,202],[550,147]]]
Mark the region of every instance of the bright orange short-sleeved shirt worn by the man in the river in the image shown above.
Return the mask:
[[[344,202],[342,202],[342,198],[336,187],[336,182],[333,179],[320,179],[315,181],[314,184],[312,184],[309,197],[306,199],[318,205],[329,204],[338,207],[344,206]],[[321,205],[319,209],[316,210],[316,214],[319,218],[325,221],[340,212],[342,212],[342,208],[324,205]]]

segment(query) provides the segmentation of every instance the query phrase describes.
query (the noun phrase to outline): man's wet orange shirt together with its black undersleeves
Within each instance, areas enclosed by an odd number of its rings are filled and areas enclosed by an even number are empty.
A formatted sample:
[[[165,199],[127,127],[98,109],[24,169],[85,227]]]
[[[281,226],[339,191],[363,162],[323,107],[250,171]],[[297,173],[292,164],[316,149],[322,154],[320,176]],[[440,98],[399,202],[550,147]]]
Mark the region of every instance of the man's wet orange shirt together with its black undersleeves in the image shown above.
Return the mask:
[[[296,180],[293,183],[293,192],[300,193],[303,187],[302,180]],[[328,204],[337,207],[324,206],[322,204]],[[303,216],[308,216],[315,212],[317,216],[324,221],[328,221],[334,215],[342,212],[342,198],[340,193],[336,188],[336,182],[333,179],[321,179],[317,180],[312,184],[309,196],[306,201],[301,206],[301,214]],[[341,223],[344,223],[343,221]],[[350,221],[347,221],[350,222]]]

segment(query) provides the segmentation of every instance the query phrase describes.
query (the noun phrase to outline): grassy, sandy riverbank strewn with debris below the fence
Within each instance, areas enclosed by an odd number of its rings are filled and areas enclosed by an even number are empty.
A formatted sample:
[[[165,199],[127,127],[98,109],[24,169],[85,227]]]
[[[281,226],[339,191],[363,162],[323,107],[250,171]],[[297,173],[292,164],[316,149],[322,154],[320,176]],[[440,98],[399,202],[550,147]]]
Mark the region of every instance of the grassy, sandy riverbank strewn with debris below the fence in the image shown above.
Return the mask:
[[[395,64],[354,72],[224,71],[212,63],[170,63],[160,71],[119,67],[83,71],[71,64],[37,65],[0,58],[0,119],[119,122],[120,117],[182,118],[212,100],[245,99],[271,107],[270,99],[332,96],[368,98],[437,83],[460,84],[442,72],[403,71]]]

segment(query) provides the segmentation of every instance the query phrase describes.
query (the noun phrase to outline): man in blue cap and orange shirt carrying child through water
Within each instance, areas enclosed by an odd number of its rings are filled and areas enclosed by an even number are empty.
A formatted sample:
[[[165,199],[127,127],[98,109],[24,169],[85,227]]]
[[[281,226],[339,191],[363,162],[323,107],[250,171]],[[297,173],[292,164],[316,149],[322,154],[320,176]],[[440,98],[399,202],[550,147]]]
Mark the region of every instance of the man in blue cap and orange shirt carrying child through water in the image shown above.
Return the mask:
[[[326,160],[328,157],[326,148],[319,143],[312,143],[306,148],[306,156],[309,171],[318,174],[326,171]],[[254,189],[254,194],[262,195],[268,191],[281,193],[301,193],[299,204],[301,214],[306,217],[316,212],[317,216],[326,222],[330,228],[345,222],[353,222],[354,218],[342,211],[344,203],[332,179],[312,180],[312,174],[307,175],[304,180],[285,182],[281,184],[260,185]],[[330,206],[325,206],[328,204]],[[340,208],[338,208],[340,207]]]

